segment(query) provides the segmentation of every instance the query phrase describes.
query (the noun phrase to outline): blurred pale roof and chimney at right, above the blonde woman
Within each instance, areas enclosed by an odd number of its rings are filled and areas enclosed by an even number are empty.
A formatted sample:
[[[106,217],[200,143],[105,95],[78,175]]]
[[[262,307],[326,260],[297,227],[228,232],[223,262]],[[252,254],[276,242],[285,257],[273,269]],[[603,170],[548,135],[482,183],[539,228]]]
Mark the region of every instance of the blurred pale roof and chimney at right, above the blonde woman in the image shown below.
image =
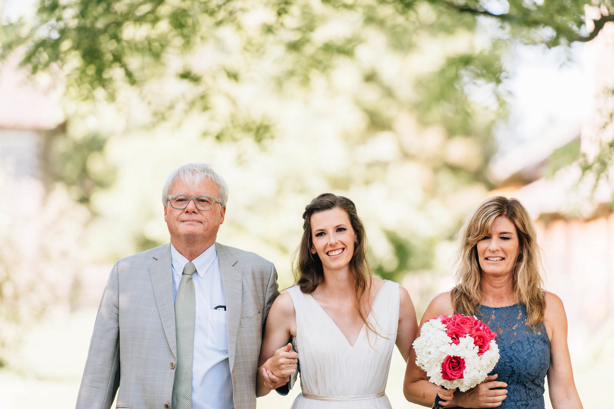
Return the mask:
[[[606,172],[604,177],[604,173],[583,174],[577,161],[556,172],[548,164],[548,158],[556,156],[559,149],[564,150],[578,136],[581,152],[589,161],[602,149],[602,143],[614,138],[614,23],[607,23],[586,47],[591,51],[586,55],[590,60],[588,65],[594,71],[594,104],[581,131],[553,128],[547,136],[511,151],[490,165],[492,180],[499,185],[491,194],[517,197],[534,218],[560,216],[588,220],[612,214],[612,169],[600,170]],[[550,177],[545,177],[547,174]]]

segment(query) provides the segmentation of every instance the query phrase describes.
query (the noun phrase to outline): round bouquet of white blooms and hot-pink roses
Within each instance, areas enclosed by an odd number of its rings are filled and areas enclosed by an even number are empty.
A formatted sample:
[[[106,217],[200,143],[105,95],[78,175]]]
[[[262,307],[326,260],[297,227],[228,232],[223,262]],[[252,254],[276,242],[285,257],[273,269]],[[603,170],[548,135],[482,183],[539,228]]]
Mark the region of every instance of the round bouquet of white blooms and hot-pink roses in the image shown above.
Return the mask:
[[[499,361],[496,336],[474,316],[437,316],[422,325],[413,343],[416,364],[426,371],[430,382],[467,391],[481,383]],[[433,408],[439,407],[438,401]]]

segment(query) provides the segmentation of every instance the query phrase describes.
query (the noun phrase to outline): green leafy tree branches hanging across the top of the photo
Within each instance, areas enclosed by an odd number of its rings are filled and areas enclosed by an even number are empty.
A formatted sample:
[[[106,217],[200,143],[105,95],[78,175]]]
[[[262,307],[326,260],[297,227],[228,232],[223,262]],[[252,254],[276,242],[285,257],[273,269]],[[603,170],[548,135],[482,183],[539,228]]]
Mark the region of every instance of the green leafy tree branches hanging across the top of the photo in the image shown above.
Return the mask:
[[[584,21],[585,6],[601,7],[605,14],[594,21],[591,33]],[[589,40],[606,21],[614,20],[614,13],[608,15],[607,10],[614,11],[608,0],[42,0],[34,21],[2,26],[1,56],[23,45],[21,64],[33,73],[59,69],[66,78],[66,95],[76,100],[102,94],[115,101],[122,85],[142,88],[153,78],[173,75],[198,88],[184,102],[207,110],[217,75],[240,81],[254,61],[275,46],[281,48],[276,48],[276,69],[271,74],[281,88],[293,90],[293,85],[308,86],[314,72],[327,73],[340,60],[356,59],[356,50],[374,33],[385,37],[384,47],[392,53],[408,56],[428,39],[468,32],[475,37],[472,47],[449,53],[443,64],[426,70],[408,101],[424,120],[467,133],[472,131],[473,113],[467,104],[467,85],[500,83],[505,76],[502,57],[510,41],[553,47]],[[327,25],[338,21],[350,28],[322,35]],[[225,44],[229,32],[238,36],[239,47]],[[478,45],[480,41],[484,44]],[[201,54],[205,61],[199,61],[198,69],[186,64],[169,67],[170,59],[198,53],[211,44],[222,53],[238,48],[247,66],[237,66],[232,61],[236,58],[208,66],[208,58]],[[378,72],[364,75],[390,97],[398,97]],[[168,117],[178,102],[174,99],[160,107],[160,115]],[[448,109],[441,109],[441,104]],[[385,127],[385,118],[373,119],[375,126]],[[236,121],[248,133],[262,137],[268,132],[266,124]]]

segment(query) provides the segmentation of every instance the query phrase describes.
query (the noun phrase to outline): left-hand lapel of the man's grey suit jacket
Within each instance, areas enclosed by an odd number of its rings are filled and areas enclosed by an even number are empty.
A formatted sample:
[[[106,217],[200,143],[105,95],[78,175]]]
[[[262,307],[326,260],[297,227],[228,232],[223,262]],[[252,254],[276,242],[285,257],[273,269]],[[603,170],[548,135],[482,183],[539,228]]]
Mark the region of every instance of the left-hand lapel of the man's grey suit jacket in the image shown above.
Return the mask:
[[[160,248],[153,256],[149,265],[149,276],[152,280],[153,296],[158,306],[162,327],[168,340],[168,345],[177,357],[177,338],[175,330],[175,305],[173,296],[173,266],[171,264],[171,245]]]

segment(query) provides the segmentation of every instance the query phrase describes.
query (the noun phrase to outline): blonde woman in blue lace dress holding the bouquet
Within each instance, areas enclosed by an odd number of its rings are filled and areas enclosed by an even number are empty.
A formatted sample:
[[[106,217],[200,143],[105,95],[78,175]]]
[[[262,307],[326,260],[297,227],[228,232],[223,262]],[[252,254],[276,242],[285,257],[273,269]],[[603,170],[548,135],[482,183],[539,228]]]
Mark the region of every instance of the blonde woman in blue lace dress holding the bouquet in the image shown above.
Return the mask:
[[[501,357],[495,369],[467,392],[427,381],[411,351],[404,392],[430,406],[436,394],[446,407],[543,409],[544,381],[554,409],[582,407],[567,348],[567,318],[559,297],[543,289],[535,227],[517,199],[491,197],[457,235],[456,286],[438,294],[421,319],[475,315],[495,332]]]

